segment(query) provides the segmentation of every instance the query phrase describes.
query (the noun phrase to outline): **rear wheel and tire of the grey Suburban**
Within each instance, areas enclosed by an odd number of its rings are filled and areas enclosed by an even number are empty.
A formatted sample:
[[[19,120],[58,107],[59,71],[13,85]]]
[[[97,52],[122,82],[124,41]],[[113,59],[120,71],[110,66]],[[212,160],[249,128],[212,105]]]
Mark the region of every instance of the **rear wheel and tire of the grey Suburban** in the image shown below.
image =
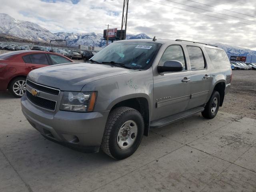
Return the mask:
[[[220,107],[220,93],[218,91],[214,91],[212,93],[211,98],[207,102],[204,107],[204,111],[202,111],[202,116],[207,119],[212,119],[218,113]]]

